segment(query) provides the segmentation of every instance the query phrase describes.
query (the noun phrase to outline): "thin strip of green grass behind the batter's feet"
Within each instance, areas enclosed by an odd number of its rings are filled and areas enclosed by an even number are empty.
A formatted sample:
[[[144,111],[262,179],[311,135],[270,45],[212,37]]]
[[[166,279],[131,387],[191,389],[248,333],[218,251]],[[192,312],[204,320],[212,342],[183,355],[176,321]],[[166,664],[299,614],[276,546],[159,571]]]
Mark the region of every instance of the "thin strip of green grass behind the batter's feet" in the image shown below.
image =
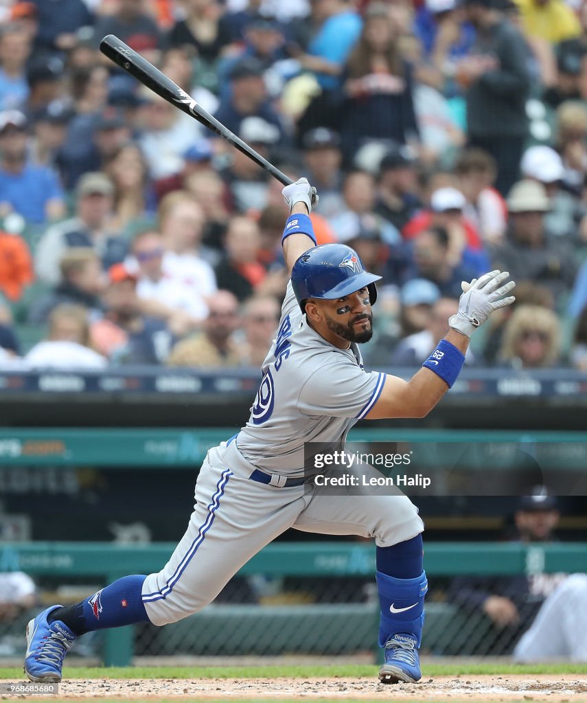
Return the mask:
[[[319,678],[344,676],[351,678],[376,676],[378,666],[366,664],[348,664],[335,666],[125,666],[91,667],[65,666],[64,678]],[[474,676],[489,674],[578,674],[587,675],[587,664],[500,664],[496,662],[479,662],[463,664],[434,664],[424,662],[424,678],[434,676]],[[0,679],[20,681],[23,678],[20,667],[1,667]]]

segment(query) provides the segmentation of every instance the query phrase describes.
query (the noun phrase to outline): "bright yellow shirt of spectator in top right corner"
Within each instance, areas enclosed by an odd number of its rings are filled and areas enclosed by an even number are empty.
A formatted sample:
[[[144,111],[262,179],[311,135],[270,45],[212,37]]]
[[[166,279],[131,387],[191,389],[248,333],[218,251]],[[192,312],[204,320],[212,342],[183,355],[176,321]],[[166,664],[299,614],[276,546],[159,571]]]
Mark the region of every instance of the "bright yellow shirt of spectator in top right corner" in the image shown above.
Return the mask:
[[[516,0],[522,13],[524,33],[553,44],[581,34],[581,25],[564,0]]]

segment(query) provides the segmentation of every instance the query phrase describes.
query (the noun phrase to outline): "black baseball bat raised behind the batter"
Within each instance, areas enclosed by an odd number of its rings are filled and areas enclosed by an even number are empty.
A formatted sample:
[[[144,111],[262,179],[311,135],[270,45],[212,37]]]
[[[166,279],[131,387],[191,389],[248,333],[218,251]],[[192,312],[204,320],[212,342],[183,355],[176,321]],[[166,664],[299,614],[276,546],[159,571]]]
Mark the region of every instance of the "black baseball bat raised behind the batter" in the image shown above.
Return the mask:
[[[124,44],[122,39],[115,37],[114,34],[108,34],[100,42],[100,51],[133,78],[150,88],[153,93],[157,93],[158,96],[168,103],[172,103],[176,108],[185,112],[186,115],[190,115],[190,117],[198,120],[200,124],[212,129],[216,134],[226,139],[229,144],[232,144],[232,146],[247,155],[262,169],[268,171],[271,176],[274,176],[284,186],[289,186],[293,183],[292,179],[280,172],[262,155],[257,154],[246,142],[236,136],[236,134],[233,134],[230,129],[224,127],[224,124],[200,107],[191,96],[188,96],[186,91],[183,91],[165,73],[155,68],[152,63],[136,53],[130,46]]]

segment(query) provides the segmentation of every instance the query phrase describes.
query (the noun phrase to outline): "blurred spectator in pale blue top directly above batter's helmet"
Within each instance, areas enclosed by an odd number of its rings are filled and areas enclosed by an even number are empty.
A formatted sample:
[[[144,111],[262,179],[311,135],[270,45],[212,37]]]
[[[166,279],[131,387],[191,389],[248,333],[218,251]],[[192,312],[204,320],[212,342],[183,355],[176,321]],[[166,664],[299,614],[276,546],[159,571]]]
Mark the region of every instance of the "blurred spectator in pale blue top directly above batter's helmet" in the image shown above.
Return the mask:
[[[344,209],[328,222],[335,232],[337,240],[347,242],[357,236],[361,230],[361,217],[368,215],[378,228],[382,241],[388,245],[401,242],[396,228],[375,212],[377,190],[375,179],[364,171],[351,171],[344,176],[342,197]]]

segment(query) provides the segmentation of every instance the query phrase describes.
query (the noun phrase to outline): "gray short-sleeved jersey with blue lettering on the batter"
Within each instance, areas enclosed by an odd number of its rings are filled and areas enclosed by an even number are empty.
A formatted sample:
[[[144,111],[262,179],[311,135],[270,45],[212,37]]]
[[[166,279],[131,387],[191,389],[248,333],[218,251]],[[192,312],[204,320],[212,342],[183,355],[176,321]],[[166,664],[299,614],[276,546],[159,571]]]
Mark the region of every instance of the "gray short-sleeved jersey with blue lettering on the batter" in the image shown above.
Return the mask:
[[[230,453],[233,460],[240,455],[248,465],[283,475],[302,474],[306,442],[342,446],[385,383],[384,373],[364,370],[356,344],[337,349],[312,330],[291,281],[262,371],[249,421]]]

